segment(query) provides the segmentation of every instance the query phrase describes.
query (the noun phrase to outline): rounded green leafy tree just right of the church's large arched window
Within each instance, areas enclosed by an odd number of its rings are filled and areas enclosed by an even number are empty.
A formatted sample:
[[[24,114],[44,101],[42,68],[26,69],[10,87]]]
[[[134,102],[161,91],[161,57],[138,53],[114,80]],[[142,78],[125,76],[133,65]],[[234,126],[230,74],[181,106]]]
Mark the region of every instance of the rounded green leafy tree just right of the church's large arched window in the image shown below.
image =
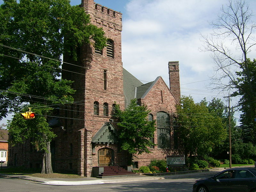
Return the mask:
[[[227,130],[219,112],[210,112],[205,100],[195,103],[191,97],[182,96],[177,106],[178,135],[185,154],[209,155],[226,139]]]

